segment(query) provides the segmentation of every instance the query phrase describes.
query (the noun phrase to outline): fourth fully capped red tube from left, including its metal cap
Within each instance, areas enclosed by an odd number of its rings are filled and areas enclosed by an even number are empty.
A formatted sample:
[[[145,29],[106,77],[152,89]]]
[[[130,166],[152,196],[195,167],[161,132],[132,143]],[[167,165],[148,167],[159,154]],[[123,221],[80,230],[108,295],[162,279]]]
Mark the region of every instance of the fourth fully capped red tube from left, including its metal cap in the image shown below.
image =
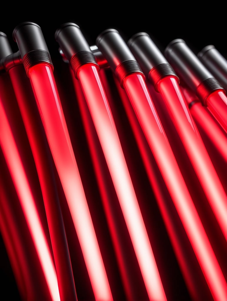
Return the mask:
[[[162,95],[165,107],[227,240],[227,196],[181,92],[178,77],[148,34],[137,33],[128,44],[147,78]],[[148,69],[150,70],[147,72]]]

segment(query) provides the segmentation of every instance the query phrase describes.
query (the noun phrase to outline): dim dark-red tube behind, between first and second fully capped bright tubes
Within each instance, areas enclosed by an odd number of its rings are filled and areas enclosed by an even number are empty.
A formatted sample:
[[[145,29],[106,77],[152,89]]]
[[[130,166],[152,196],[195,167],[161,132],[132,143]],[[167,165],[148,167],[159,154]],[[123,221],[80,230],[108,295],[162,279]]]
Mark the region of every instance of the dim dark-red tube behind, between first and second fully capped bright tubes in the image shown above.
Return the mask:
[[[121,221],[120,209],[116,206],[118,202],[117,196],[112,189],[112,182],[110,183],[110,176],[108,167],[106,167],[105,157],[100,146],[100,142],[96,133],[96,129],[93,124],[89,109],[87,107],[84,94],[80,86],[80,82],[74,76],[74,71],[70,68],[71,77],[74,84],[74,89],[77,97],[77,101],[80,107],[80,113],[83,118],[83,123],[87,135],[87,140],[90,147],[90,153],[92,156],[94,169],[96,172],[96,178],[98,181],[100,194],[102,196],[103,206],[107,216],[107,222],[109,225],[112,241],[114,244],[115,253],[118,260],[118,266],[121,272],[121,278],[126,295],[129,300],[137,299],[137,289],[134,286],[134,269],[132,268],[132,262],[128,256],[128,250],[130,245],[126,239],[126,227]],[[135,277],[138,281],[139,276]]]

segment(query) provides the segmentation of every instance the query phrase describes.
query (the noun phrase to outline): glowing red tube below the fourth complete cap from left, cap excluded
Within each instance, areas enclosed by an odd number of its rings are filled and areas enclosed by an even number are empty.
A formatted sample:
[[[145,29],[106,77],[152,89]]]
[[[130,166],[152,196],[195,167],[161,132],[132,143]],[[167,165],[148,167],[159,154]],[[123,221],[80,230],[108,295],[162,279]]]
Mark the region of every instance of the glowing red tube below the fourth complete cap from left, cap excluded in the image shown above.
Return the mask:
[[[167,110],[172,116],[172,120],[194,166],[207,200],[227,240],[227,196],[203,144],[178,82],[175,78],[166,77],[159,81],[157,89],[166,102]]]

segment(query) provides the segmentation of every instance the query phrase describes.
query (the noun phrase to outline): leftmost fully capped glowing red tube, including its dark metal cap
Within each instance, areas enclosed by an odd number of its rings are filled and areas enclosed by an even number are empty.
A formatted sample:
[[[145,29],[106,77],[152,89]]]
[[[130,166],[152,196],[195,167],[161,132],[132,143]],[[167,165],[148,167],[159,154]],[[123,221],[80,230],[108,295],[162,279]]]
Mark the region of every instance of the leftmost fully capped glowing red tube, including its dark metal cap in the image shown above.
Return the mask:
[[[106,270],[53,76],[52,62],[41,29],[37,24],[25,22],[14,29],[13,35],[32,85],[49,147],[80,242],[95,299],[110,301],[112,294]],[[27,38],[31,39],[29,45],[26,43]],[[37,50],[33,50],[32,47],[37,46],[37,41],[42,42],[38,45]],[[37,57],[38,61],[36,60]]]

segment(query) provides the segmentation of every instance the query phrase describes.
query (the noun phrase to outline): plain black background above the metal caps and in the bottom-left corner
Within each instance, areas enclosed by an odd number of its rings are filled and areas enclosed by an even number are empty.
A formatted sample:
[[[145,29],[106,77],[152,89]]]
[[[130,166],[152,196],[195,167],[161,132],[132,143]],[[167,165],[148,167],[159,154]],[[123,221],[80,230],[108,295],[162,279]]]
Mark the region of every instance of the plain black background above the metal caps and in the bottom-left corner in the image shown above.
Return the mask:
[[[173,39],[181,38],[197,54],[203,47],[214,45],[221,54],[227,56],[226,8],[218,2],[179,2],[167,4],[154,2],[30,2],[29,5],[4,3],[0,18],[0,31],[8,36],[13,51],[17,44],[12,39],[14,28],[21,22],[37,23],[42,31],[53,61],[58,68],[61,56],[55,41],[55,31],[65,22],[80,26],[89,45],[95,45],[96,37],[108,28],[117,29],[127,41],[137,32],[147,32],[153,41],[164,51]],[[58,70],[58,69],[57,69]],[[4,277],[1,292],[4,296],[11,290],[14,300],[19,300],[14,276],[1,240],[0,274]],[[15,293],[12,294],[12,291]],[[0,297],[1,299],[1,297]],[[3,299],[3,301],[7,299]],[[41,300],[40,300],[41,301]],[[178,301],[178,300],[176,300]]]

